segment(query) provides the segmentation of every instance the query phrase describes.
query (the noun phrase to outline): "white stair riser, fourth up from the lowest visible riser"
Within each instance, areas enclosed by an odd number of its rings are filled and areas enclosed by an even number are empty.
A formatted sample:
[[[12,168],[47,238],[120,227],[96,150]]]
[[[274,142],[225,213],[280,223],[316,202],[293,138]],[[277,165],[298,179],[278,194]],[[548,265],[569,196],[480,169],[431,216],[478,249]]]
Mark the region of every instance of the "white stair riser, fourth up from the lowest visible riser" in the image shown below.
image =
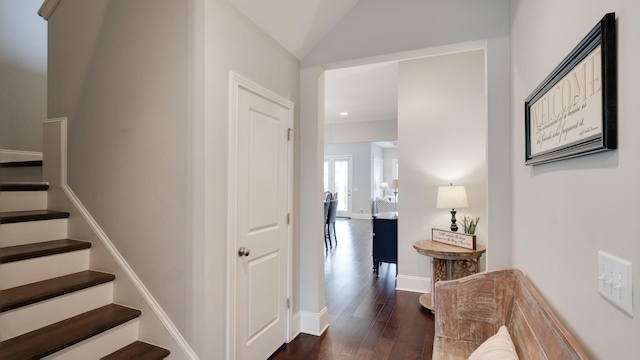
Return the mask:
[[[26,221],[0,225],[0,247],[67,237],[67,219]]]

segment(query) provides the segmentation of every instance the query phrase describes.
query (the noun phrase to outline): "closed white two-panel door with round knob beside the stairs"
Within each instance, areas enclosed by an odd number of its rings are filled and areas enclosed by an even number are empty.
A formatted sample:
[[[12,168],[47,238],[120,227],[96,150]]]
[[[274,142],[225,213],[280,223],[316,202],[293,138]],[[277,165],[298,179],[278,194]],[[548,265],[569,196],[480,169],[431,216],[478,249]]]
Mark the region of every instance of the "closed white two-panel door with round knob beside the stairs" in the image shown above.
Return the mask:
[[[238,88],[235,358],[266,359],[287,341],[291,108]]]

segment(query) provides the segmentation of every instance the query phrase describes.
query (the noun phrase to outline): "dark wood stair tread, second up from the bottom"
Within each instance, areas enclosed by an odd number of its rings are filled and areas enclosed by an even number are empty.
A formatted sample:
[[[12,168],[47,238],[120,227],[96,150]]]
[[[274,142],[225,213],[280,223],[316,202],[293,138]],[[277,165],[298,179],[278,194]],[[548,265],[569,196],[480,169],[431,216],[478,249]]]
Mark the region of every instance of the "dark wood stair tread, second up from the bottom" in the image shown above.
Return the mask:
[[[0,343],[0,359],[40,359],[140,316],[109,304]]]

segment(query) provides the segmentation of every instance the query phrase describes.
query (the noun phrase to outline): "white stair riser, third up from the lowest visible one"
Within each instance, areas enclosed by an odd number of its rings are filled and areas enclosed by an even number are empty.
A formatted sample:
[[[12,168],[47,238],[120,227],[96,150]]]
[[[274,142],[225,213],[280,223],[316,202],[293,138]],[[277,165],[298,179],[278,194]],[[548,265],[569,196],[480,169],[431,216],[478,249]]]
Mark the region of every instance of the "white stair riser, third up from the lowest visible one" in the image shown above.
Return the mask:
[[[0,289],[89,270],[89,249],[0,265]]]

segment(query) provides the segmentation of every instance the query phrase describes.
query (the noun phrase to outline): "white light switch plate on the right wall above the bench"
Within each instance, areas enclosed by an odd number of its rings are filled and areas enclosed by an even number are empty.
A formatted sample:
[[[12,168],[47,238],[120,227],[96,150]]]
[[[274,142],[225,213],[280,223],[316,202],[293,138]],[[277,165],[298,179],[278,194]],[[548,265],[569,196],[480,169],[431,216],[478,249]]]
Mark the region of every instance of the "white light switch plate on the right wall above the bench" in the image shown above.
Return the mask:
[[[598,291],[600,295],[633,316],[631,262],[598,250]]]

